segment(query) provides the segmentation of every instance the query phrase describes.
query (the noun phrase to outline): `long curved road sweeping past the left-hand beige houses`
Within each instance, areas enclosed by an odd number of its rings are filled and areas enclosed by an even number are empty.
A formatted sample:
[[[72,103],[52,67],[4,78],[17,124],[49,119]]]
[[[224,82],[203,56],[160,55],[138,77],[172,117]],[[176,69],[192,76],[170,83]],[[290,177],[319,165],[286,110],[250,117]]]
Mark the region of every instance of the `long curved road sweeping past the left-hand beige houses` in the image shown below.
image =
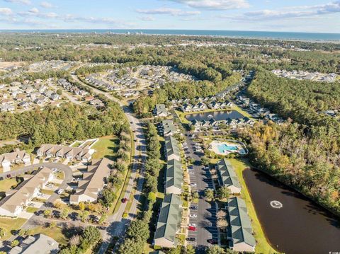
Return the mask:
[[[78,79],[76,75],[72,74],[71,76],[72,79],[74,79],[74,81],[77,81],[78,83],[81,83],[84,86],[89,86],[86,83],[82,82],[80,79]],[[147,158],[146,140],[142,129],[142,123],[135,117],[135,115],[133,115],[132,110],[128,106],[123,105],[123,103],[121,103],[120,100],[112,96],[110,93],[101,91],[92,86],[89,86],[89,88],[91,88],[92,91],[94,91],[94,93],[103,94],[104,96],[106,96],[106,98],[118,103],[120,107],[123,108],[123,111],[125,112],[125,115],[130,123],[130,127],[133,132],[133,138],[135,139],[135,158],[132,164],[132,173],[130,175],[128,187],[124,195],[124,198],[130,200],[130,195],[132,194],[134,182],[137,177],[138,165],[139,163],[141,163],[142,169],[144,169],[145,160]],[[110,223],[110,226],[106,228],[106,231],[102,232],[103,243],[101,245],[101,248],[99,248],[98,250],[98,254],[104,254],[106,252],[108,245],[111,243],[114,236],[118,237],[123,236],[125,230],[128,228],[128,225],[130,224],[130,221],[137,217],[137,205],[140,202],[142,186],[144,183],[144,175],[142,171],[140,172],[138,177],[139,178],[137,180],[137,187],[133,197],[132,205],[130,207],[130,211],[128,213],[128,218],[123,219],[123,213],[125,212],[126,205],[128,204],[128,202],[125,202],[120,204],[118,212],[108,217],[107,221]]]

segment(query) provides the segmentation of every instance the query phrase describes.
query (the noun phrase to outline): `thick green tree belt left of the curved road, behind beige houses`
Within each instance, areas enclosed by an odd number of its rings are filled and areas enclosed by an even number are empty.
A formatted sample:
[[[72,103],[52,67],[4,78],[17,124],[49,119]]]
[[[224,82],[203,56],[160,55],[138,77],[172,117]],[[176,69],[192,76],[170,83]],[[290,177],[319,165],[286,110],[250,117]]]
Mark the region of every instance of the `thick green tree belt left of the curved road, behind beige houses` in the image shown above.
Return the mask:
[[[43,110],[35,108],[21,113],[0,114],[0,139],[26,137],[32,147],[102,137],[128,129],[123,111],[113,102],[107,102],[103,111],[67,103],[60,108],[48,106]]]

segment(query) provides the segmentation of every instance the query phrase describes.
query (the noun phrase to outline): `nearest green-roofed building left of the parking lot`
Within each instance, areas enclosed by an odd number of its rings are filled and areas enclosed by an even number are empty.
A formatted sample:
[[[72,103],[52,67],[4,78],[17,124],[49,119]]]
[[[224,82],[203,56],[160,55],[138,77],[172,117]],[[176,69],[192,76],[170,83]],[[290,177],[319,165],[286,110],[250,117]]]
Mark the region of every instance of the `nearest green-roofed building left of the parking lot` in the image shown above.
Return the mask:
[[[181,224],[181,197],[169,194],[164,196],[159,212],[154,239],[166,238],[175,242],[176,232]]]

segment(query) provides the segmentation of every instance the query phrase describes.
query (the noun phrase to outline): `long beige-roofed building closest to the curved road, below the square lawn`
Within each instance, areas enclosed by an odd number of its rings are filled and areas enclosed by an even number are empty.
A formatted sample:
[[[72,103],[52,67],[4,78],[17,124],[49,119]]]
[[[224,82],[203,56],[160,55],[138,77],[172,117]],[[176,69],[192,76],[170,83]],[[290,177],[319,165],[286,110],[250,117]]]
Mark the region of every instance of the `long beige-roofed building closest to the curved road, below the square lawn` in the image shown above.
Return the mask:
[[[110,174],[110,161],[108,158],[93,160],[88,166],[87,172],[83,173],[83,180],[78,182],[76,193],[69,197],[70,204],[79,202],[96,202],[98,194],[105,186],[106,178]]]

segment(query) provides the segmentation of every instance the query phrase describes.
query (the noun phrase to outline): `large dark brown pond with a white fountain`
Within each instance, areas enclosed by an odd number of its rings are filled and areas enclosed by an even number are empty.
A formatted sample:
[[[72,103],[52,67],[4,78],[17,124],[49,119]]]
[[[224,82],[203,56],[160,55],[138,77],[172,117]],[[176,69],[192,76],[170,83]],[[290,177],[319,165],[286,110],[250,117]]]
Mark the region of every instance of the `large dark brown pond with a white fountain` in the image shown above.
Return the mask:
[[[288,254],[340,251],[340,224],[330,212],[270,176],[246,169],[243,177],[262,228]]]

